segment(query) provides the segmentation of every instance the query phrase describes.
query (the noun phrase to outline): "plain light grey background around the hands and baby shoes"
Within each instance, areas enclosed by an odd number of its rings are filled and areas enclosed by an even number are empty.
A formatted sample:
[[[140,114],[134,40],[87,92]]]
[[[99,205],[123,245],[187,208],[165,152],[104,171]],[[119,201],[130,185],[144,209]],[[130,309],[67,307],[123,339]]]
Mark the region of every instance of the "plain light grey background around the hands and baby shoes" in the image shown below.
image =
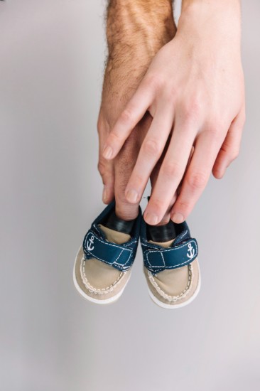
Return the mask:
[[[202,288],[175,311],[148,298],[140,249],[116,304],[90,304],[72,284],[76,252],[104,208],[105,4],[0,2],[0,390],[259,390],[259,1],[242,2],[241,154],[188,219]]]

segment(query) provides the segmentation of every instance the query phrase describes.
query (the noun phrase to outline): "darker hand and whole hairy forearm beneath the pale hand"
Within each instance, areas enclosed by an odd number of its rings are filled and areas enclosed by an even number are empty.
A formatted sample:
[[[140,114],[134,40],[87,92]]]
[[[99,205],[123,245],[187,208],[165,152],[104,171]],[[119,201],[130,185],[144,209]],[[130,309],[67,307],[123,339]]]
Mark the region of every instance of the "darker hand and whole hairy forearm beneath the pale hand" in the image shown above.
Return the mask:
[[[151,125],[151,115],[146,113],[134,126],[131,135],[113,161],[107,161],[102,156],[104,141],[136,92],[152,58],[173,38],[174,34],[175,23],[170,0],[109,2],[107,12],[109,56],[97,122],[98,168],[104,183],[103,201],[109,203],[115,197],[117,215],[124,220],[134,219],[138,215],[139,203],[133,205],[126,200],[125,188],[136,164],[141,143]],[[152,183],[155,182],[157,173],[158,166],[151,175]]]

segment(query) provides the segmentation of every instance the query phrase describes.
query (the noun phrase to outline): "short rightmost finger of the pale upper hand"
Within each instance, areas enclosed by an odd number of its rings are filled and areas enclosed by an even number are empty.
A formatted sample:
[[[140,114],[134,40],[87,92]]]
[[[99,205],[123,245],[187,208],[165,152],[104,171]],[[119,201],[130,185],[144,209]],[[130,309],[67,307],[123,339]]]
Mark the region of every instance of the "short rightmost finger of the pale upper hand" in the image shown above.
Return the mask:
[[[244,109],[237,115],[229,127],[227,136],[224,139],[220,152],[212,169],[215,178],[220,179],[224,176],[224,172],[229,164],[237,159],[239,155],[240,143],[242,139],[242,131],[245,122]]]

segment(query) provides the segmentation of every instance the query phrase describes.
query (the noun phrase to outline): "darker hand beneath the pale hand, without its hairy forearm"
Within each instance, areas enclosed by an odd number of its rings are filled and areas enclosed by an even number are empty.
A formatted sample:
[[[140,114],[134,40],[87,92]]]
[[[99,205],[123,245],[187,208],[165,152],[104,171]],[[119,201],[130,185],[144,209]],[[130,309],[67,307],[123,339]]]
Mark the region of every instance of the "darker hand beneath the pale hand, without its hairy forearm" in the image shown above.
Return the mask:
[[[134,127],[133,132],[131,132],[114,160],[107,161],[104,159],[102,156],[104,141],[107,139],[110,129],[112,129],[122,109],[124,109],[125,101],[127,102],[129,99],[129,94],[131,95],[130,87],[127,87],[124,92],[121,90],[120,83],[117,82],[118,72],[117,80],[112,82],[111,79],[112,75],[106,72],[104,75],[102,104],[97,122],[99,134],[98,170],[104,184],[102,200],[108,204],[115,198],[116,213],[119,218],[132,220],[138,215],[138,204],[133,205],[126,200],[125,188],[136,163],[141,141],[151,125],[151,116],[146,116],[146,119],[143,119]],[[131,78],[129,78],[130,80]],[[109,92],[109,86],[113,86],[114,92],[112,94]]]

